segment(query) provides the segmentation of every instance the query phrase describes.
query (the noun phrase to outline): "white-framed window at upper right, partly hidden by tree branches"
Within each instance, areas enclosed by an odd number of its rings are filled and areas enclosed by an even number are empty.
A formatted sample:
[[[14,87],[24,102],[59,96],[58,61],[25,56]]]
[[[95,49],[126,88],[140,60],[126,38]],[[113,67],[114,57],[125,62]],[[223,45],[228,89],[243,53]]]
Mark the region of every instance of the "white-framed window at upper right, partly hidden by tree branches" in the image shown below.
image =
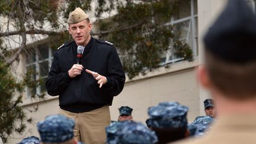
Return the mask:
[[[194,56],[198,56],[198,40],[197,40],[197,1],[183,0],[180,1],[178,12],[171,21],[166,25],[174,25],[174,28],[180,32],[181,39],[187,41],[193,50]],[[172,50],[162,53],[160,65],[174,63],[183,60],[176,57]]]

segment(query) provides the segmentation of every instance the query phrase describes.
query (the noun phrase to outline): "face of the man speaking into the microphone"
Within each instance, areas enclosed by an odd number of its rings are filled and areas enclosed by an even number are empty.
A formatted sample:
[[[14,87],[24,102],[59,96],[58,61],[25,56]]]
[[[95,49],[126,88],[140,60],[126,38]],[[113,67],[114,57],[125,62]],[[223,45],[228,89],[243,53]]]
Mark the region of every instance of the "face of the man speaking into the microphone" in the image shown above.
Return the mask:
[[[75,40],[76,45],[85,46],[89,42],[92,24],[88,23],[87,20],[83,20],[76,24],[69,24],[69,33],[71,34],[73,40]]]

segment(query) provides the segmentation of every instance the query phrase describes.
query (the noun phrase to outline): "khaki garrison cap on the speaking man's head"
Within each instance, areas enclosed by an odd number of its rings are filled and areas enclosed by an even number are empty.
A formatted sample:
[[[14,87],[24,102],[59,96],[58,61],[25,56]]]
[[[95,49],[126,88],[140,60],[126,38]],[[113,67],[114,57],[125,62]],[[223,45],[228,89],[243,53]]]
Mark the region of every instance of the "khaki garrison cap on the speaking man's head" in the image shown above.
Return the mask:
[[[68,24],[76,24],[88,18],[81,8],[76,8],[69,14]]]

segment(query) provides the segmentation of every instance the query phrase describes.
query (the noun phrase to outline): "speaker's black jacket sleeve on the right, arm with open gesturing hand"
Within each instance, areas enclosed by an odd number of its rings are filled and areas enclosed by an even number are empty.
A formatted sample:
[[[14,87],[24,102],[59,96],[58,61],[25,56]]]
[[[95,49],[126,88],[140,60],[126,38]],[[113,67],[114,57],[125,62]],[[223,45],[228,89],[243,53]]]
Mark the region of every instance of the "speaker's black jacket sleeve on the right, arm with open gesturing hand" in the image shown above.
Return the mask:
[[[107,83],[103,85],[104,93],[113,96],[119,95],[124,87],[125,75],[116,48],[114,47],[112,47],[111,53],[108,55],[106,78]]]

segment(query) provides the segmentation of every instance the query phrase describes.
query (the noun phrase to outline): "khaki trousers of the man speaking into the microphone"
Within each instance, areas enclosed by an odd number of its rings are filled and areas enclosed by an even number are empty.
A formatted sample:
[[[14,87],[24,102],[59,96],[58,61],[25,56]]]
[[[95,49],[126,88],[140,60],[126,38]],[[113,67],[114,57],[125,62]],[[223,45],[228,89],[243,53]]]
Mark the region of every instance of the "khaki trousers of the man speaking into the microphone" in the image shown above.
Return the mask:
[[[108,105],[84,113],[72,113],[60,108],[59,114],[75,120],[74,137],[86,144],[103,144],[106,142],[105,127],[110,124]]]

